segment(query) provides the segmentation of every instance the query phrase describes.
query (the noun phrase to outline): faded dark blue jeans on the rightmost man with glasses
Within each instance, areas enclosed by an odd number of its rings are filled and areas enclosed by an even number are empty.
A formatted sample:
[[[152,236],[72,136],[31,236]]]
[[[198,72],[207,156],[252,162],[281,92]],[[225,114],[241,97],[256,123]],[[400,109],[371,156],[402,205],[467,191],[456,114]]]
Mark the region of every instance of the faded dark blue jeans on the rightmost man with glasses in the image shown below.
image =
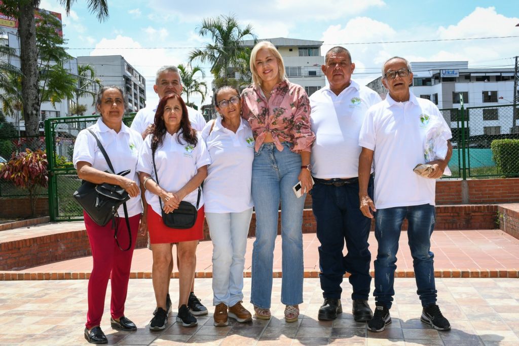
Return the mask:
[[[404,218],[408,221],[407,237],[417,294],[422,307],[436,302],[434,285],[434,254],[431,252],[431,234],[434,229],[434,206],[422,204],[408,207],[377,209],[375,212],[375,237],[378,242],[375,260],[375,302],[388,309],[394,296],[394,271],[397,269],[398,241]]]

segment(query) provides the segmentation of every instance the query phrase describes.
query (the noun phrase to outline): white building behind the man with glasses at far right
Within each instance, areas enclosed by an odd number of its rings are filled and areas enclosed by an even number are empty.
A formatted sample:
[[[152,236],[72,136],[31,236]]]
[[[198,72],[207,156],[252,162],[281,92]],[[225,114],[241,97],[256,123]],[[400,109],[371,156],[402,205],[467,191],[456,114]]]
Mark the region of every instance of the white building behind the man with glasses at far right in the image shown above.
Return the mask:
[[[469,110],[469,123],[465,124],[469,127],[469,136],[519,132],[512,107],[491,108],[513,104],[514,69],[469,68],[468,65],[468,61],[411,62],[411,91],[416,97],[431,100],[440,109],[460,109],[460,94],[465,108],[489,107]],[[367,86],[384,98],[388,91],[381,79],[378,77]],[[450,118],[453,130],[460,126],[457,120],[454,116]]]

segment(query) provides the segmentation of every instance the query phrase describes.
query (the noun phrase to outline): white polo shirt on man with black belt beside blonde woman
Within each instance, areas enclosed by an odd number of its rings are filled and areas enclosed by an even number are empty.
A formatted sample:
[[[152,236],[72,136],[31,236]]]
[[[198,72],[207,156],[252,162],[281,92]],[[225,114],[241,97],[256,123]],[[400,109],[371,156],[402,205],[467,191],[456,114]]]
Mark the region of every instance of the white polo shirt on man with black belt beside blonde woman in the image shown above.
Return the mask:
[[[375,91],[355,81],[339,95],[327,86],[310,96],[310,123],[316,134],[312,176],[330,179],[359,175],[359,131],[368,108],[380,101]]]

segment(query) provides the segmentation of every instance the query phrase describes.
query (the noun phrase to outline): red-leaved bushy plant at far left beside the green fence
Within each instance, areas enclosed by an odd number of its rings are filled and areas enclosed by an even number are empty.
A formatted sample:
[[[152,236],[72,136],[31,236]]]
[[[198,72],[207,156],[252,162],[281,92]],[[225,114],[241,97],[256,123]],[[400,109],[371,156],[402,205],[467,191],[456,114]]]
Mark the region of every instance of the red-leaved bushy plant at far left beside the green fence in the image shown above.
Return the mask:
[[[49,181],[47,165],[47,154],[44,151],[25,149],[25,152],[13,155],[0,170],[0,178],[27,190],[31,201],[31,216],[36,213],[36,189],[46,188]]]

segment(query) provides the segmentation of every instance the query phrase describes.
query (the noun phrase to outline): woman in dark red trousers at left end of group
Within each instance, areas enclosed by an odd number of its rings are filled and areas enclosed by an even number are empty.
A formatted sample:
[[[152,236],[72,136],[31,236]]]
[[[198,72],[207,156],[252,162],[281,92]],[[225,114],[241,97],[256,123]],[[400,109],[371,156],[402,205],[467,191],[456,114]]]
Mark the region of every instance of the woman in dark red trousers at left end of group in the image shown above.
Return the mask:
[[[125,96],[116,86],[104,87],[97,98],[97,110],[101,114],[97,123],[81,130],[74,144],[73,162],[80,179],[92,183],[110,183],[124,188],[130,195],[126,202],[132,246],[128,251],[121,250],[114,239],[112,222],[105,226],[95,223],[84,212],[88,241],[92,248],[93,268],[88,280],[88,313],[85,325],[85,339],[90,343],[106,343],[106,336],[101,330],[101,317],[104,311],[104,298],[108,278],[112,276],[111,324],[119,330],[135,330],[135,324],[124,316],[130,265],[135,247],[135,240],[143,211],[139,190],[136,165],[142,137],[122,123],[125,113]],[[108,173],[110,168],[104,155],[99,150],[97,141],[88,131],[94,132],[103,145],[108,158],[115,169],[120,172],[129,169],[126,177]],[[128,229],[124,218],[123,207],[120,206],[116,222],[117,239],[121,248],[128,247]],[[122,217],[121,217],[122,216]],[[112,274],[112,275],[111,275]]]

